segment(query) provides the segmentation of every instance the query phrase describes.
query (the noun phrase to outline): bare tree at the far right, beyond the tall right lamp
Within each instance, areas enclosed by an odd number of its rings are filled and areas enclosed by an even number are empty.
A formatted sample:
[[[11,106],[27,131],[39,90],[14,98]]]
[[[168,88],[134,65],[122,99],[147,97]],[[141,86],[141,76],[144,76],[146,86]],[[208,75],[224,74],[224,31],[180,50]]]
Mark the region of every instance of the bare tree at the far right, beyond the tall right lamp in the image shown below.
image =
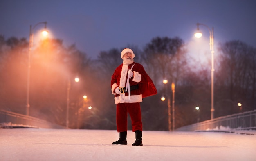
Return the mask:
[[[238,112],[237,102],[242,102],[243,110],[253,109],[256,93],[256,49],[241,41],[229,41],[221,44],[219,51],[220,72],[216,75],[216,92],[219,94],[216,101],[231,102],[219,115]]]

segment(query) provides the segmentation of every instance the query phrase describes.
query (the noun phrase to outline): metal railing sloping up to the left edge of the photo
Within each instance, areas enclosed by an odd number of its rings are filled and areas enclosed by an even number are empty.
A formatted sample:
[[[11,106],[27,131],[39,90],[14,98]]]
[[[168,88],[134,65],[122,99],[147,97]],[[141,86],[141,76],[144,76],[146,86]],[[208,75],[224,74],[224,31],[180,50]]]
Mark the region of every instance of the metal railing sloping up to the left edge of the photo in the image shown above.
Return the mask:
[[[32,128],[65,128],[63,126],[47,122],[36,117],[22,115],[5,110],[0,110],[0,125]]]

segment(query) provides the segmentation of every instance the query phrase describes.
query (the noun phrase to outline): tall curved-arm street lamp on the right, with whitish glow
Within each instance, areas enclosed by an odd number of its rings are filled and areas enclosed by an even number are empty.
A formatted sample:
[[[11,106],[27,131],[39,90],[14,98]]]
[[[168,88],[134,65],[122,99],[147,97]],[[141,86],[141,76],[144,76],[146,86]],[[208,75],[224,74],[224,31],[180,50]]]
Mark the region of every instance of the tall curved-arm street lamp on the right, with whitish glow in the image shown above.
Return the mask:
[[[211,50],[211,119],[214,118],[214,106],[213,106],[213,98],[214,98],[214,77],[213,77],[213,72],[214,72],[214,38],[213,38],[213,28],[209,28],[205,24],[199,24],[197,23],[197,32],[195,33],[196,38],[202,37],[202,33],[199,31],[199,26],[205,26],[210,32],[210,50]]]

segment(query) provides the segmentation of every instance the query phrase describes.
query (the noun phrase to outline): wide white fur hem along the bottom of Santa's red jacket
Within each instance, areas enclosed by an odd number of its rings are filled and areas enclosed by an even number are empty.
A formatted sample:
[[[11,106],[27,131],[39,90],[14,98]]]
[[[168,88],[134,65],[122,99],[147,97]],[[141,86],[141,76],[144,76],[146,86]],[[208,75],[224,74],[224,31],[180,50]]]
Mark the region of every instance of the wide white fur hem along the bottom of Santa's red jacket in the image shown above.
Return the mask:
[[[142,95],[131,95],[130,99],[129,96],[125,96],[124,94],[121,94],[118,97],[115,97],[115,104],[119,103],[137,103],[142,102]]]

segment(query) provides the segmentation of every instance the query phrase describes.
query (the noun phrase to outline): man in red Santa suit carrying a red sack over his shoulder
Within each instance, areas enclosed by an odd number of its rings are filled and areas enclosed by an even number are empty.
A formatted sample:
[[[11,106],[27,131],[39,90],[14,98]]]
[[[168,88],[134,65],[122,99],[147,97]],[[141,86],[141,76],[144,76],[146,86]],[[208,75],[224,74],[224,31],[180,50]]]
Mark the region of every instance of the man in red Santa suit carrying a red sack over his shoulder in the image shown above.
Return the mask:
[[[111,78],[111,91],[115,95],[117,132],[119,140],[112,144],[127,145],[127,114],[132,121],[135,142],[132,146],[142,146],[142,121],[140,102],[142,98],[157,94],[152,80],[144,67],[133,61],[135,54],[129,48],[121,52],[123,63],[119,65]]]

